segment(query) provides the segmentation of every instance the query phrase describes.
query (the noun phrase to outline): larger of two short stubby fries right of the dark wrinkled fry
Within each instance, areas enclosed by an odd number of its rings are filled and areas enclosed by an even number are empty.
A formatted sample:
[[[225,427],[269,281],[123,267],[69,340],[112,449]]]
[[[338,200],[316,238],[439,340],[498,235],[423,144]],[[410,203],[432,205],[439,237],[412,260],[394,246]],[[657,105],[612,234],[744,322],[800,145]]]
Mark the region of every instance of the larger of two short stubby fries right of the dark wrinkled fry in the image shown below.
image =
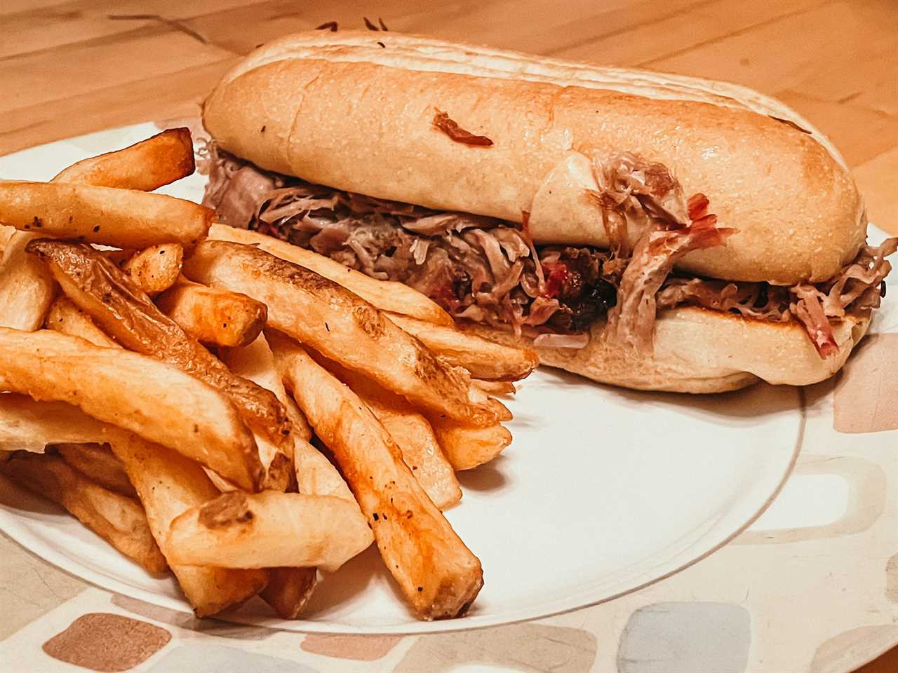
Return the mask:
[[[185,332],[208,345],[249,345],[265,327],[265,304],[241,293],[181,278],[156,298],[156,305]]]

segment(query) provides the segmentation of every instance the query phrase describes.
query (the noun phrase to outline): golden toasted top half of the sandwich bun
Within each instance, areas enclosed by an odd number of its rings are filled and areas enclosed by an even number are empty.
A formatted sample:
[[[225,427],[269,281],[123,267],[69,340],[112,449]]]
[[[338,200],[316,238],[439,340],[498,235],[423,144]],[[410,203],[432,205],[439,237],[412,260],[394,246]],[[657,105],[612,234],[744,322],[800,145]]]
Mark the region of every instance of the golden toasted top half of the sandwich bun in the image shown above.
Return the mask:
[[[383,46],[382,46],[383,45]],[[456,143],[436,109],[490,147]],[[609,245],[584,197],[593,158],[634,153],[701,192],[726,247],[678,268],[731,280],[823,281],[866,235],[832,144],[733,84],[603,68],[384,32],[278,39],[225,74],[208,131],[262,168],[331,187],[520,222],[534,240]],[[785,120],[785,121],[784,121]],[[800,130],[804,129],[804,130]]]

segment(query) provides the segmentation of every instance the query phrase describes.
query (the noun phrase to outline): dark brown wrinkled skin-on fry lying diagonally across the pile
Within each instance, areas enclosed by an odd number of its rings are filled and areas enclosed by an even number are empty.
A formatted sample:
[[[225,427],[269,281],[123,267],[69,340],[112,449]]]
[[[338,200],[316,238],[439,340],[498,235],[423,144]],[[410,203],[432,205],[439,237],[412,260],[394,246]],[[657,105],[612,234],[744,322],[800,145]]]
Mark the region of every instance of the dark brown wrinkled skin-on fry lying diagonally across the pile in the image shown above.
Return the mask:
[[[290,425],[274,394],[234,375],[101,253],[84,244],[48,239],[32,240],[28,249],[47,260],[68,298],[119,344],[206,381],[231,398],[253,430],[277,445],[286,441]]]

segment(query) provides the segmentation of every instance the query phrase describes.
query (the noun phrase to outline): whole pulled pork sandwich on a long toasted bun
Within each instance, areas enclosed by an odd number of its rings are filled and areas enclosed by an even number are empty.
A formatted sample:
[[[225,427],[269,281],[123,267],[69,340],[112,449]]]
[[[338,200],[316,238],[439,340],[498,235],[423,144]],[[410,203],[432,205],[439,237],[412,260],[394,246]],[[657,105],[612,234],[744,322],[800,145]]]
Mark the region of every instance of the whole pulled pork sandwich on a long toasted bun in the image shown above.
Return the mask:
[[[312,31],[225,74],[203,119],[223,223],[628,388],[825,379],[898,245],[866,245],[825,137],[731,84]]]

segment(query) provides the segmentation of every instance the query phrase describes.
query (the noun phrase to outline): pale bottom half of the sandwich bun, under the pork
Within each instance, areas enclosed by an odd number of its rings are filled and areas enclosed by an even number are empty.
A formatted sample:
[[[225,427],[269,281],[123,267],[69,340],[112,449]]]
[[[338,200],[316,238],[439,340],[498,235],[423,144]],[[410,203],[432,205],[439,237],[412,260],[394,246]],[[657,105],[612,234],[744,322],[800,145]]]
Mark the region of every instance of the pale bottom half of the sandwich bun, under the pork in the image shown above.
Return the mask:
[[[839,352],[823,359],[796,322],[766,322],[732,313],[681,307],[658,314],[655,353],[609,345],[596,323],[584,348],[540,348],[541,364],[588,379],[638,390],[713,393],[745,388],[759,380],[805,386],[839,371],[867,333],[869,312],[832,326]],[[483,326],[465,327],[506,344],[530,339]]]

